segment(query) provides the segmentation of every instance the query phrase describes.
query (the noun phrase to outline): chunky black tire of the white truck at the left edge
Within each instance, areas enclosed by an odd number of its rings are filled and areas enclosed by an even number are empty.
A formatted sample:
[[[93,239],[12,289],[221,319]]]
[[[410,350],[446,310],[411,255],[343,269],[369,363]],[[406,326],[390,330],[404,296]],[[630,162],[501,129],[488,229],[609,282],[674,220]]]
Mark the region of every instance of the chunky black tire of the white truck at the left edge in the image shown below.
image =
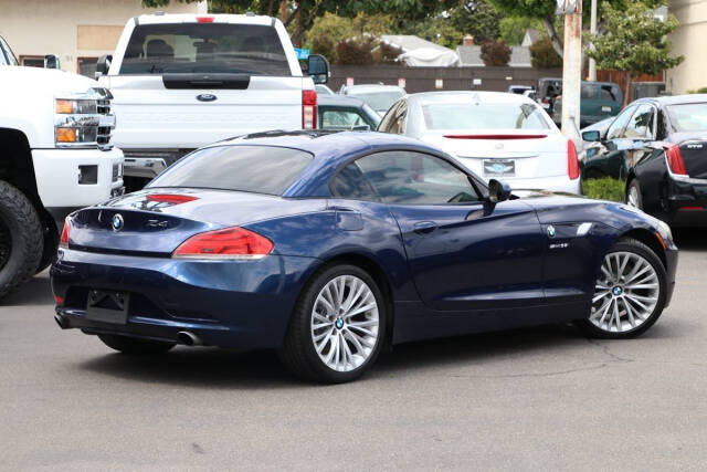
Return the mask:
[[[18,188],[0,180],[0,300],[36,273],[43,249],[34,206]]]

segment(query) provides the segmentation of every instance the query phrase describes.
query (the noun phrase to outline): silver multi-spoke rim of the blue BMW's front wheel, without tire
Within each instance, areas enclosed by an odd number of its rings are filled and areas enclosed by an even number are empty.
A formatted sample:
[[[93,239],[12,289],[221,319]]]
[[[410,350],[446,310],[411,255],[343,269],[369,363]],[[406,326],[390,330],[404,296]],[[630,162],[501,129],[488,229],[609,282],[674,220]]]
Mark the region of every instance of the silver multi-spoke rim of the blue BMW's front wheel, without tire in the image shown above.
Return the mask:
[[[648,261],[634,252],[611,252],[597,280],[589,319],[609,333],[635,329],[648,319],[659,294],[658,274]]]

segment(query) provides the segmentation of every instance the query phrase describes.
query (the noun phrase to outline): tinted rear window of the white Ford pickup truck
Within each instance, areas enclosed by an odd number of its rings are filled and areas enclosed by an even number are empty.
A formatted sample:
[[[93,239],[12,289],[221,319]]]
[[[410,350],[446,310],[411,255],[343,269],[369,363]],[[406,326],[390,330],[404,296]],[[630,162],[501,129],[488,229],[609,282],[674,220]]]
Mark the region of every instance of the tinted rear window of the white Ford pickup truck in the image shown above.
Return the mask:
[[[120,74],[165,73],[292,75],[272,27],[176,23],[135,28]]]

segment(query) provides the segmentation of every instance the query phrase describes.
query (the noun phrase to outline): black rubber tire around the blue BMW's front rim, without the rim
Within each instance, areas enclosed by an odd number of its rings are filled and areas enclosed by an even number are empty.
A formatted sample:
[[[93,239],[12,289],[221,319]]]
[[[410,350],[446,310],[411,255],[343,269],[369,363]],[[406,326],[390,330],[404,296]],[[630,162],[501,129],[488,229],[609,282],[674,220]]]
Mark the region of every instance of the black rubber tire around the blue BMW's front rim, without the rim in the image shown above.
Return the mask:
[[[602,339],[629,339],[645,333],[651,326],[655,324],[655,322],[661,317],[663,313],[663,308],[665,307],[665,296],[667,292],[667,275],[665,273],[665,266],[661,259],[653,252],[651,248],[632,238],[621,239],[616,242],[608,252],[608,254],[612,252],[633,252],[641,255],[645,259],[655,270],[658,279],[658,300],[653,308],[653,312],[648,315],[648,317],[634,329],[624,331],[624,332],[606,332],[601,329],[592,322],[587,319],[581,319],[577,322],[577,325],[590,337],[597,337]]]

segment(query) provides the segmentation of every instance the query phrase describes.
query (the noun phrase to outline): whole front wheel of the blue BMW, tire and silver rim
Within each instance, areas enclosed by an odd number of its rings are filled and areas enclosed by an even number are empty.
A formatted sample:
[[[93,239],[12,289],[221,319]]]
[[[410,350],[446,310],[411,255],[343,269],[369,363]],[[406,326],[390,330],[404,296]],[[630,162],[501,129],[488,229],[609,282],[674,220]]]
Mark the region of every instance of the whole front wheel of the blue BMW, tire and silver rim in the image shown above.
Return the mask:
[[[592,307],[580,327],[592,337],[623,339],[645,333],[658,319],[667,291],[665,268],[640,241],[623,239],[604,256]]]

